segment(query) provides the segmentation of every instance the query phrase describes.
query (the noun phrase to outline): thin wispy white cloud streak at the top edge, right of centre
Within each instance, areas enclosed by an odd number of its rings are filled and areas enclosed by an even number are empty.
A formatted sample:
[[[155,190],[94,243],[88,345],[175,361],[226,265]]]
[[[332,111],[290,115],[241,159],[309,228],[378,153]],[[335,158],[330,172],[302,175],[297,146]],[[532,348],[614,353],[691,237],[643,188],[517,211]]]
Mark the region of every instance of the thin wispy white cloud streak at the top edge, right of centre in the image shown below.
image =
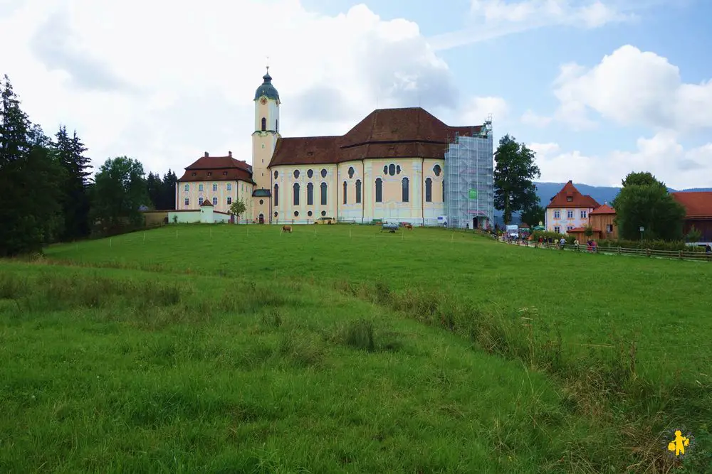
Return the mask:
[[[669,0],[471,0],[468,26],[431,38],[436,50],[486,41],[544,26],[600,28],[631,21],[635,11]]]

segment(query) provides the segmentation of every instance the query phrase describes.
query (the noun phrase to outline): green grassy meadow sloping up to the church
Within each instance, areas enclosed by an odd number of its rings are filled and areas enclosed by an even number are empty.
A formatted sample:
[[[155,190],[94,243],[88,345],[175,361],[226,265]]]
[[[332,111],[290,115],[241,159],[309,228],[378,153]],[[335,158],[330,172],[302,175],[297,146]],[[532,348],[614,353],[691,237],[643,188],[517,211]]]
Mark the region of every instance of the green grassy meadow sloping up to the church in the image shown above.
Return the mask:
[[[710,308],[712,263],[442,229],[51,246],[0,262],[0,472],[710,472]]]

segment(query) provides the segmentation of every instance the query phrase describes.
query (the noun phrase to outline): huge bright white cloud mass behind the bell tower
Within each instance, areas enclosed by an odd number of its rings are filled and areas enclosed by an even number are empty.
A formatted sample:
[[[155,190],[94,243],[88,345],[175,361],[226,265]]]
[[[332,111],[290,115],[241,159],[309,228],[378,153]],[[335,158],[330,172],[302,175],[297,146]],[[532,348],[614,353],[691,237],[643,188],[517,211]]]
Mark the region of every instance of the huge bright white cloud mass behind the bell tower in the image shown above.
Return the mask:
[[[0,15],[13,45],[0,72],[23,109],[48,134],[77,129],[95,165],[127,154],[147,171],[181,170],[229,150],[251,161],[266,56],[286,136],[344,133],[376,107],[421,104],[458,125],[507,110],[461,97],[416,23],[364,5],[325,16],[298,0],[26,0]]]

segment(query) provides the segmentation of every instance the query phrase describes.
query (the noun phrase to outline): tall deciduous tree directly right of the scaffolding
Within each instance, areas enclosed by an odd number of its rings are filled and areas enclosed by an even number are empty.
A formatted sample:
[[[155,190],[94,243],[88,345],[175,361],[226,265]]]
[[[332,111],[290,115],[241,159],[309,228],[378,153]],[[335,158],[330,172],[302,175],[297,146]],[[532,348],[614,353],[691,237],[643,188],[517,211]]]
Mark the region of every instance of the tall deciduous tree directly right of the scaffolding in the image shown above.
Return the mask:
[[[534,163],[535,153],[525,144],[518,144],[508,134],[499,141],[495,152],[494,207],[503,211],[505,224],[512,221],[512,214],[538,205],[534,178],[541,176]]]

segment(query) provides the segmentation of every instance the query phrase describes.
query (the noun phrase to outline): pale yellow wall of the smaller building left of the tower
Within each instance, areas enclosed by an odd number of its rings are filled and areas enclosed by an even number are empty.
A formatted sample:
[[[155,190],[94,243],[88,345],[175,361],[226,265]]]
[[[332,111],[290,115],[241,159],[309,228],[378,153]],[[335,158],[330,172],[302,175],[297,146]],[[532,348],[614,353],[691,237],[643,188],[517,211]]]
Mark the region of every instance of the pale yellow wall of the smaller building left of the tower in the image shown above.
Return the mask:
[[[213,190],[213,185],[217,185],[217,191]],[[188,185],[188,190],[185,186]],[[200,185],[203,190],[200,190]],[[231,190],[228,190],[228,185],[231,185]],[[227,198],[230,196],[233,201],[241,199],[244,201],[247,212],[251,212],[253,185],[245,181],[180,181],[178,183],[178,200],[176,210],[199,210],[199,198],[212,199],[217,198],[217,205],[214,205],[214,210],[220,212],[229,212],[230,205],[227,203]],[[185,198],[189,199],[188,205],[185,205]],[[241,216],[241,218],[247,218]]]

